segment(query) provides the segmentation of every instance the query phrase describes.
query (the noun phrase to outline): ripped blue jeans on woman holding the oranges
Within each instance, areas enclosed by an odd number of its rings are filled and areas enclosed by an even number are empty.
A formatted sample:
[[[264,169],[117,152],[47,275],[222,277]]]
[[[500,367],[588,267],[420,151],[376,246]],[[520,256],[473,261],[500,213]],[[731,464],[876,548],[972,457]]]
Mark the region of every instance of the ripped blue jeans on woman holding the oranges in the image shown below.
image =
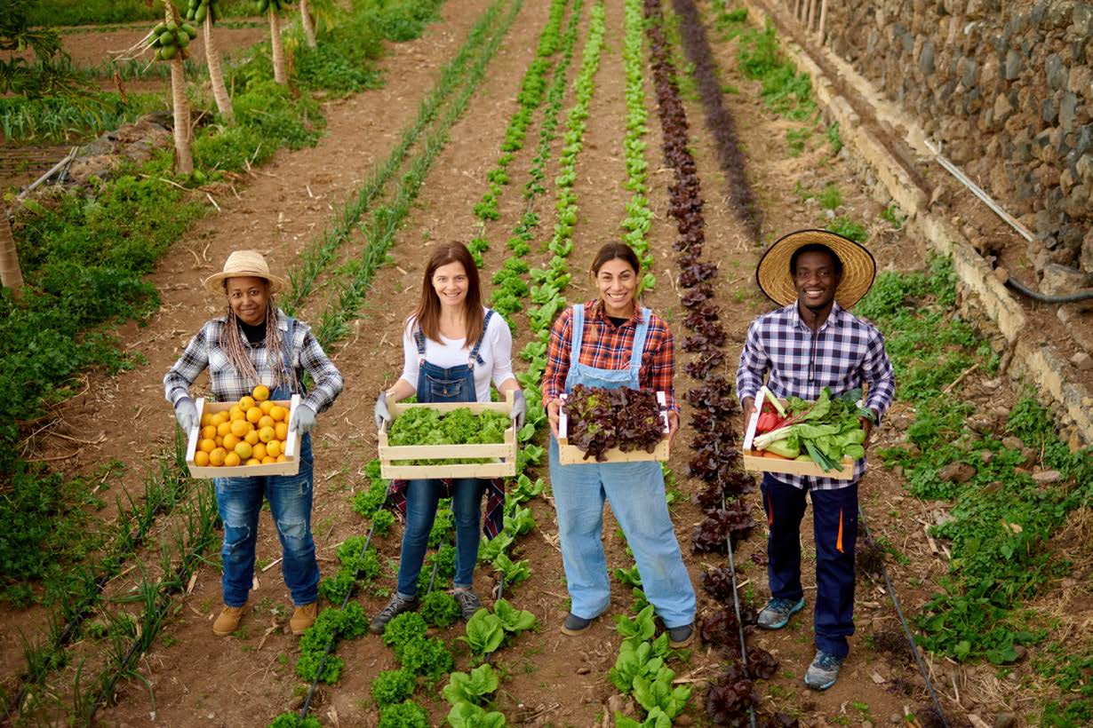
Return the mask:
[[[220,554],[224,574],[224,604],[242,607],[247,602],[255,575],[255,544],[262,499],[281,539],[281,574],[297,607],[319,598],[319,565],[312,538],[312,439],[304,435],[296,475],[215,478],[216,506],[224,523]]]

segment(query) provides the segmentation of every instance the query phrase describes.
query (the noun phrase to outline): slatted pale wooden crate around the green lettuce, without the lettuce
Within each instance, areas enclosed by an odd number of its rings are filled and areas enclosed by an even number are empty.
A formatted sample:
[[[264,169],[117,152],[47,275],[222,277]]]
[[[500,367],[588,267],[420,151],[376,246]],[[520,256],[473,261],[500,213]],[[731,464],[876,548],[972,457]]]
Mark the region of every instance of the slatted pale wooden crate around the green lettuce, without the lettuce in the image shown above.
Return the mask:
[[[391,417],[400,415],[412,407],[428,407],[442,413],[453,409],[470,409],[472,413],[500,411],[508,415],[513,411],[513,393],[509,392],[505,402],[450,402],[443,404],[401,404],[387,403]],[[516,475],[516,427],[509,425],[505,430],[505,442],[495,444],[472,445],[392,445],[389,443],[387,423],[379,428],[379,475],[384,478],[402,480],[420,478],[507,478]],[[395,465],[395,461],[439,460],[439,458],[478,458],[489,457],[490,463],[453,463],[447,465]]]

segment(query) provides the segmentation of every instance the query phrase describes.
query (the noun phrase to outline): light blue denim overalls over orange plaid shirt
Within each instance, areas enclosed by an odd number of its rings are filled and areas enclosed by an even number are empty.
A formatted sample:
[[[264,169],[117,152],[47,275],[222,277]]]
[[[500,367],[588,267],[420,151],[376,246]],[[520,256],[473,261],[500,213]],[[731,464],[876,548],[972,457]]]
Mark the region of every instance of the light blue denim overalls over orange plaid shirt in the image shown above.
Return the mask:
[[[649,309],[642,309],[642,322],[634,332],[634,345],[626,369],[599,369],[580,363],[585,332],[585,307],[573,307],[573,344],[565,391],[577,384],[618,389],[640,389],[638,371],[648,334]],[[694,621],[694,587],[683,565],[679,541],[668,504],[660,463],[559,463],[557,440],[550,441],[550,481],[557,511],[562,541],[562,563],[569,589],[569,611],[583,619],[602,613],[611,600],[607,559],[603,554],[603,501],[634,551],[645,596],[654,605],[666,628]]]

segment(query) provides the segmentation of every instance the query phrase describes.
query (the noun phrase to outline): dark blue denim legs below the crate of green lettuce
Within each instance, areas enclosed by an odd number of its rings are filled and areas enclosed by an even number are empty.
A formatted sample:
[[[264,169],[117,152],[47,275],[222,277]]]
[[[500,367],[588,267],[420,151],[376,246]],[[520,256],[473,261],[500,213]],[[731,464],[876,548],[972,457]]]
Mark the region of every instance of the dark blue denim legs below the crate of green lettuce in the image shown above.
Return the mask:
[[[456,520],[456,577],[458,588],[470,588],[478,562],[481,538],[482,493],[485,481],[478,478],[451,480],[451,513]],[[409,599],[418,594],[418,576],[428,548],[428,533],[440,502],[439,480],[411,480],[407,484],[407,528],[402,534],[399,557],[399,596]]]

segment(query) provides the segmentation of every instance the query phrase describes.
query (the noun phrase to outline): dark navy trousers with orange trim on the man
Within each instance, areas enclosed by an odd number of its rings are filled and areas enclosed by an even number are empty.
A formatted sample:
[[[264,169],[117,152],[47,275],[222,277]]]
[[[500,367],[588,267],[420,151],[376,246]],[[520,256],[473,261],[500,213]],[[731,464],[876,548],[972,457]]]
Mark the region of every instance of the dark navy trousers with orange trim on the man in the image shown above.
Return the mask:
[[[803,490],[763,476],[771,596],[797,601],[801,587],[801,518],[812,499],[816,546],[816,604],[812,614],[816,649],[845,658],[854,634],[854,548],[858,539],[858,484],[835,490]]]

